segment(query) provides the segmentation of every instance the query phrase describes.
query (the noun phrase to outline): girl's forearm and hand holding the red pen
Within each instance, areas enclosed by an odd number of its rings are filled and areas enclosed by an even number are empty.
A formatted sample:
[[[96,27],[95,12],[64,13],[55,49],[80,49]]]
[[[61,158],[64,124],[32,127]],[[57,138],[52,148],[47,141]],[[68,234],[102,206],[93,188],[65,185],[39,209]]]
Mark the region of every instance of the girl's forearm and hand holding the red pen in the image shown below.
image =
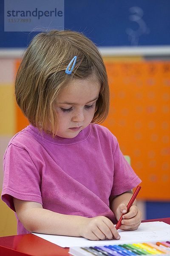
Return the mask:
[[[117,221],[123,215],[123,220],[121,222],[120,229],[122,230],[136,230],[141,224],[142,212],[136,206],[136,200],[127,212],[127,204],[132,197],[132,191],[110,197],[110,208],[113,211]]]

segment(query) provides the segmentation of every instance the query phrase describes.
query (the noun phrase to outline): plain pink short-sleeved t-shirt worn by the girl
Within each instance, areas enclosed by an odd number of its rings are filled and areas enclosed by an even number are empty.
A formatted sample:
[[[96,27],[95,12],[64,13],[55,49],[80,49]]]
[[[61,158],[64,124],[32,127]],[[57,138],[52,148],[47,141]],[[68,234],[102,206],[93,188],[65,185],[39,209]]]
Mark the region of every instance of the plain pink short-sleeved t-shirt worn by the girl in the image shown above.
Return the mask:
[[[12,197],[62,214],[103,215],[116,222],[109,196],[140,182],[107,128],[88,125],[73,139],[53,139],[28,125],[11,139],[4,155],[1,197],[14,211]],[[18,218],[17,233],[29,233]]]

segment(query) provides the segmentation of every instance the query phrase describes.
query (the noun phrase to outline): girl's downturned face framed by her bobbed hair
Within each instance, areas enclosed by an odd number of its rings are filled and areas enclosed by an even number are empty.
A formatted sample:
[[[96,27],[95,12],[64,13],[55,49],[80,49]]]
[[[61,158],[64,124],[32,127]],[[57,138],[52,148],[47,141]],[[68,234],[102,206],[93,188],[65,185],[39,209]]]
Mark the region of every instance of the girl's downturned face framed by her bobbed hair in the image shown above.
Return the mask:
[[[62,89],[54,105],[59,118],[57,136],[74,138],[91,123],[99,91],[96,76],[74,79]]]

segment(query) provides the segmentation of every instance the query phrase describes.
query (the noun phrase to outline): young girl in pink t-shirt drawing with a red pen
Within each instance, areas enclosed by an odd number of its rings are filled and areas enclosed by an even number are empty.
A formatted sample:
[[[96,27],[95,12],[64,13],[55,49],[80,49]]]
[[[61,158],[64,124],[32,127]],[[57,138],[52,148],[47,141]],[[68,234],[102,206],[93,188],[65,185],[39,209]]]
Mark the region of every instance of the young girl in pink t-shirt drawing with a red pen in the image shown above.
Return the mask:
[[[2,200],[16,212],[17,233],[119,239],[113,223],[136,230],[141,212],[127,203],[141,180],[116,137],[98,125],[109,109],[105,65],[97,47],[73,31],[40,33],[15,81],[30,125],[4,155]]]

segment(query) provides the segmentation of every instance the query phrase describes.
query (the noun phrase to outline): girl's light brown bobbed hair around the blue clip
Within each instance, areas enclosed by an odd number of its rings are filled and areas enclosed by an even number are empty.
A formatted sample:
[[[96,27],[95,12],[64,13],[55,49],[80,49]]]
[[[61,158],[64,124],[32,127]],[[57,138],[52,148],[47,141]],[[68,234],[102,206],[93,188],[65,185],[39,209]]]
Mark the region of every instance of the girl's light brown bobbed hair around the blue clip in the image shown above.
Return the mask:
[[[68,75],[65,70],[75,55],[76,64]],[[17,71],[17,104],[33,126],[54,137],[58,123],[54,101],[60,90],[71,79],[86,79],[91,75],[101,84],[92,122],[101,123],[108,116],[109,87],[105,64],[96,45],[82,33],[71,30],[40,33],[31,41]]]

